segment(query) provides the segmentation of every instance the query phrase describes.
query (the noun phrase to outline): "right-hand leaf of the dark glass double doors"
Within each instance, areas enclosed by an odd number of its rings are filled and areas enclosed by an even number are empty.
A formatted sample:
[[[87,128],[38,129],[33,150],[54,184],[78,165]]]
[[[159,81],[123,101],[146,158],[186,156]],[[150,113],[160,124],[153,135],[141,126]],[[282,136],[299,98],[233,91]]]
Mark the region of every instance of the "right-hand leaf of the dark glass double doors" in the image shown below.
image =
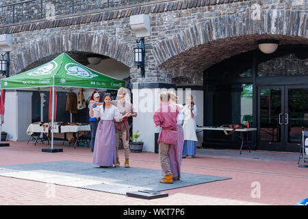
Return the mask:
[[[298,152],[308,130],[308,86],[285,86],[285,151]]]

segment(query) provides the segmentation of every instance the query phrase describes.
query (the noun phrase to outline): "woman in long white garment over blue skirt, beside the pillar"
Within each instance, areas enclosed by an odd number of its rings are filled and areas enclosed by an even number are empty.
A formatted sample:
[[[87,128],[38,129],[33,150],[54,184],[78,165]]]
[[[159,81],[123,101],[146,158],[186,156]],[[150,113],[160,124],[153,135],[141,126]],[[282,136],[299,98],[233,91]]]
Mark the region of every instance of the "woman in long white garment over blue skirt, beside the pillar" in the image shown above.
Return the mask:
[[[186,96],[186,105],[183,109],[184,112],[184,145],[183,145],[183,158],[194,158],[196,156],[196,115],[197,107],[194,104],[192,95]]]

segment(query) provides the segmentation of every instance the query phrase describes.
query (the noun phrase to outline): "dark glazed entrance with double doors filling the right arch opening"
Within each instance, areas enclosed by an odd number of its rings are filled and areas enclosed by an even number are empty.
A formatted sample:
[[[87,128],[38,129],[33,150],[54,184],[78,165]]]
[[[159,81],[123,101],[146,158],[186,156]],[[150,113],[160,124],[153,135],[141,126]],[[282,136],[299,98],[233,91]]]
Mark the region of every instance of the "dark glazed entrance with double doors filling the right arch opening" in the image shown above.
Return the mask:
[[[256,149],[299,151],[308,125],[308,44],[283,44],[272,54],[255,49],[204,71],[205,126],[250,123]],[[240,132],[206,131],[204,146],[239,148]]]

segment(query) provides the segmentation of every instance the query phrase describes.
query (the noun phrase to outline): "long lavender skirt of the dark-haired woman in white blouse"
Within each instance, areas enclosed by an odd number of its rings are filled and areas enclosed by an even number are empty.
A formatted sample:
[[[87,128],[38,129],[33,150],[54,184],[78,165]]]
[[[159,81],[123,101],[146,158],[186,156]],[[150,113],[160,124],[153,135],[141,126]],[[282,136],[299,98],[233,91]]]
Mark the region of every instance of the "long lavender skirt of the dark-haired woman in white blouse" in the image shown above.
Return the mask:
[[[116,131],[113,120],[100,120],[95,135],[93,164],[112,166],[116,164]]]

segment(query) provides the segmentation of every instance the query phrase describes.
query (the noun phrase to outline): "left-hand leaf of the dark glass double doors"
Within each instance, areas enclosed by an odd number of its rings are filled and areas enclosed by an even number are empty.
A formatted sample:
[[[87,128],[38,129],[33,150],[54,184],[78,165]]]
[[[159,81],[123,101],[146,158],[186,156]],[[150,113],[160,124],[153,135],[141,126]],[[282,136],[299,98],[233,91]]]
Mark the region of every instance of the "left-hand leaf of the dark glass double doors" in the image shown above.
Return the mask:
[[[259,86],[258,149],[283,151],[283,86]]]

